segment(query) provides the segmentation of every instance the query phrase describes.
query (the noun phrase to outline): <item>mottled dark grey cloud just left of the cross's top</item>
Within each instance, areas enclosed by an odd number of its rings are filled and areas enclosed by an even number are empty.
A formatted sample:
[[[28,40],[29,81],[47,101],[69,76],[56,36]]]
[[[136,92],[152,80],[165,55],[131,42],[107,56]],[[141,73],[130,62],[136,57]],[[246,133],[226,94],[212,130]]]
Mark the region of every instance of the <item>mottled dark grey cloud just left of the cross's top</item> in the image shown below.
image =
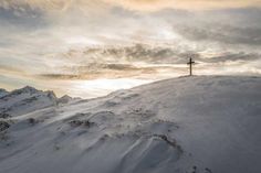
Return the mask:
[[[65,54],[59,55],[71,60],[82,60],[81,63],[98,63],[111,57],[111,63],[115,62],[145,62],[153,64],[179,64],[184,63],[184,58],[188,57],[190,52],[168,46],[152,46],[148,44],[134,44],[123,46],[98,46],[95,48],[85,48],[83,51],[71,50]],[[109,62],[108,62],[109,63]]]

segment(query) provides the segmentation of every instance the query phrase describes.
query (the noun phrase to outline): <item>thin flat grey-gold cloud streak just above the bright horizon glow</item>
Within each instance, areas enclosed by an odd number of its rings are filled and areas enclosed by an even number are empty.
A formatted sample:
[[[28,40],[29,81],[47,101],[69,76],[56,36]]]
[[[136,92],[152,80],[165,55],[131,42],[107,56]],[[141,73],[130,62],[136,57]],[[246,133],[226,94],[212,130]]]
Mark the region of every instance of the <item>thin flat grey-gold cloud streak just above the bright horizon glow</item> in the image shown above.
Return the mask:
[[[39,78],[48,79],[97,79],[97,78],[128,78],[143,77],[152,74],[159,74],[160,71],[182,72],[179,67],[173,66],[134,66],[129,64],[88,64],[86,66],[65,66],[63,71],[71,74],[40,74]]]

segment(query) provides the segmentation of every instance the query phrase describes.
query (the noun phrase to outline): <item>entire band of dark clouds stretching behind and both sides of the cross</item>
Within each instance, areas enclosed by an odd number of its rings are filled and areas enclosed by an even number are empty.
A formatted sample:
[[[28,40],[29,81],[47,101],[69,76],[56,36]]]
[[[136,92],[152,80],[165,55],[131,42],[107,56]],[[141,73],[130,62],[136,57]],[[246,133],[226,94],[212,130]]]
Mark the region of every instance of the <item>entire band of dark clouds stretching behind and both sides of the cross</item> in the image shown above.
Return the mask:
[[[86,47],[71,50],[58,56],[61,58],[60,61],[66,61],[67,63],[54,66],[53,68],[58,73],[45,72],[36,75],[36,77],[49,79],[152,77],[152,75],[186,73],[186,63],[190,56],[200,64],[202,69],[209,68],[209,64],[213,67],[218,64],[230,65],[231,63],[247,65],[261,60],[261,55],[258,53],[218,52],[208,55],[206,52],[179,51],[173,46],[146,44]]]

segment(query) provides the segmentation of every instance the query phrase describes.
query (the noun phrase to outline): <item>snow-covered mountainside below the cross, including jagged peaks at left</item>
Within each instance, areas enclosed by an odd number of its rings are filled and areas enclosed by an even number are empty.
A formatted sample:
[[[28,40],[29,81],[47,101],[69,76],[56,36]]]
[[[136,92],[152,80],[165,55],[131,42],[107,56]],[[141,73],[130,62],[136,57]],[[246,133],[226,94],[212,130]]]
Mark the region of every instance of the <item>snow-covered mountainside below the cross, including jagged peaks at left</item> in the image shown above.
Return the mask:
[[[6,93],[0,173],[259,173],[260,90],[260,77],[195,76],[90,100]]]

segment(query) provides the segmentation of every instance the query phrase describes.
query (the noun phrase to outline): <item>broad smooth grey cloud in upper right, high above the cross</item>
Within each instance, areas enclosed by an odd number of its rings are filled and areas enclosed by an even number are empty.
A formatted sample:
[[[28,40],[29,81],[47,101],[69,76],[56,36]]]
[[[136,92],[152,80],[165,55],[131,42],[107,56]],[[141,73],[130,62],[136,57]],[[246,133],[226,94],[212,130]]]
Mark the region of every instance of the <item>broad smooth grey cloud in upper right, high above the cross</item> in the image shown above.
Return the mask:
[[[237,8],[205,11],[165,9],[153,13],[173,25],[174,32],[192,42],[261,45],[261,9]]]

